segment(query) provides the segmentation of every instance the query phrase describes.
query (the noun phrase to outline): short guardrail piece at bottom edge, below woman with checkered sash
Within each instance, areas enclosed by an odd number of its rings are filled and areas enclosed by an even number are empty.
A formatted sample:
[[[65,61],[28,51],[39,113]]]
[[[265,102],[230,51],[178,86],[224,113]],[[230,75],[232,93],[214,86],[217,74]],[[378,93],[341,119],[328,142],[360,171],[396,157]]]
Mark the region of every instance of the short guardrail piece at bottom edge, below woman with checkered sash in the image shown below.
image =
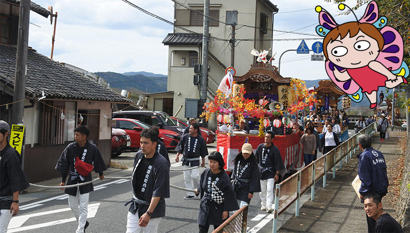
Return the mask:
[[[212,233],[245,233],[247,223],[247,209],[247,205],[240,208],[235,214],[230,216]]]

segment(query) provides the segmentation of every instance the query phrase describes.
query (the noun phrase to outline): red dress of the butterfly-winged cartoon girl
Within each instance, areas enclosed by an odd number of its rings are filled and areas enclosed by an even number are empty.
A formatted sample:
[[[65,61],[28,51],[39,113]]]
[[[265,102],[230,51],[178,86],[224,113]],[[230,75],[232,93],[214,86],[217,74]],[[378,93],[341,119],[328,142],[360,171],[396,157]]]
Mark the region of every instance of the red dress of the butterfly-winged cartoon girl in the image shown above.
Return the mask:
[[[356,68],[346,69],[350,77],[359,85],[363,92],[370,94],[372,91],[377,91],[378,87],[385,86],[387,77],[370,69],[368,65]]]

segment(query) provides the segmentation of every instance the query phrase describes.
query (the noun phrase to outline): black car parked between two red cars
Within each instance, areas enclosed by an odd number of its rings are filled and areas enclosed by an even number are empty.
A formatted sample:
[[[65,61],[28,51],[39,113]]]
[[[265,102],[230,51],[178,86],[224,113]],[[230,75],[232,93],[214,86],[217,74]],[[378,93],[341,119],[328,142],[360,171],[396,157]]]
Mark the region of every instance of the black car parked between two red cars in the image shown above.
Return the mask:
[[[112,118],[128,118],[142,121],[147,125],[158,126],[159,129],[171,130],[182,135],[184,127],[176,126],[172,119],[165,112],[157,111],[121,111],[113,112]]]

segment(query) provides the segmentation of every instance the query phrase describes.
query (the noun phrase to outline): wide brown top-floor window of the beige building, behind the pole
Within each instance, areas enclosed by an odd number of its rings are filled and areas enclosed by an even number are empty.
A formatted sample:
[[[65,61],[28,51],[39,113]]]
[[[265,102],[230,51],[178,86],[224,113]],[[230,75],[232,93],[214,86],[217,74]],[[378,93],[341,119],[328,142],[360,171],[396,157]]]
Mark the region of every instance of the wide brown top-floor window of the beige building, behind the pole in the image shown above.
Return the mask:
[[[199,12],[197,12],[199,11]],[[210,9],[209,16],[215,19],[219,19],[219,10]],[[203,9],[200,10],[188,10],[177,9],[175,11],[175,24],[180,26],[203,26]],[[209,18],[209,26],[219,26],[219,21]]]

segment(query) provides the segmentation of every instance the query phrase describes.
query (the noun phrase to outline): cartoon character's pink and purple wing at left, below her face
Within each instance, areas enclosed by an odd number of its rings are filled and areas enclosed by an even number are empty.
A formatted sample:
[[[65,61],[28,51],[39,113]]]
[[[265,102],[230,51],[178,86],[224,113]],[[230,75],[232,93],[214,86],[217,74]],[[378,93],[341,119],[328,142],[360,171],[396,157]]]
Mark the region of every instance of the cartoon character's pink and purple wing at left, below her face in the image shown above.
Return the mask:
[[[326,61],[325,68],[326,68],[326,73],[329,76],[330,80],[332,80],[333,83],[336,84],[336,86],[340,88],[340,90],[346,93],[347,96],[350,97],[354,102],[358,103],[363,99],[363,93],[361,91],[361,88],[359,87],[359,85],[357,85],[356,82],[354,82],[352,78],[350,78],[347,81],[339,81],[334,76],[334,73],[333,73],[334,69],[337,69],[338,71],[343,71],[345,70],[345,68],[335,65],[333,64],[333,62],[329,60]],[[347,72],[347,71],[344,71],[344,72]]]

